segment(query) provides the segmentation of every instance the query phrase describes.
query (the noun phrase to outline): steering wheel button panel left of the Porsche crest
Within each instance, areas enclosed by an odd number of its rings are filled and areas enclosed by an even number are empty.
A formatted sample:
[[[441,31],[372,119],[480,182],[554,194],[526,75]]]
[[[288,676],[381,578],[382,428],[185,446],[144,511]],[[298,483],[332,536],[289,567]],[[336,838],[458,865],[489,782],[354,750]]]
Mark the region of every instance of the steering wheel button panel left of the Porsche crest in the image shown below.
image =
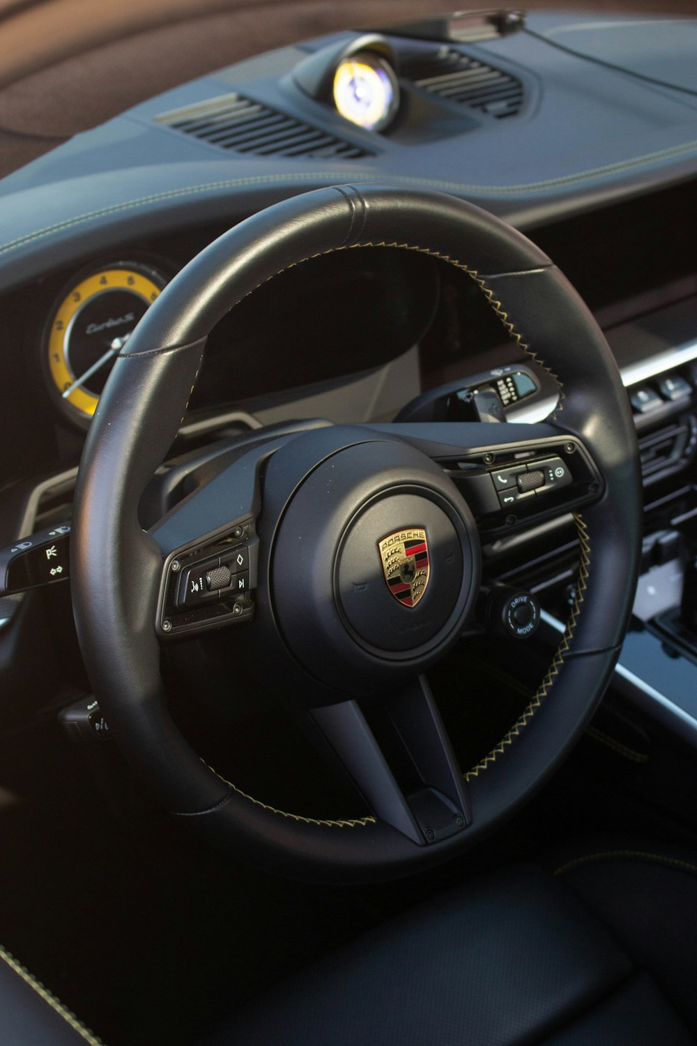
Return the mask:
[[[254,613],[258,545],[253,524],[247,522],[212,543],[167,556],[158,609],[160,638],[248,621]]]

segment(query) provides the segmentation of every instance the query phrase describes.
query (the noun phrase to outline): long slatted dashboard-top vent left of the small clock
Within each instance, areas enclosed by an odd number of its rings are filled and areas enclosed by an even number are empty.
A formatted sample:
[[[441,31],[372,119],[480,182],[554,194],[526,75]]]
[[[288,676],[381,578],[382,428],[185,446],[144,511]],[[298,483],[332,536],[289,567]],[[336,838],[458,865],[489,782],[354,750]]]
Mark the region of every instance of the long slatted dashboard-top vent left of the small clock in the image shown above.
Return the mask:
[[[226,94],[156,117],[158,123],[218,149],[253,156],[357,160],[368,150],[270,109],[241,94]]]

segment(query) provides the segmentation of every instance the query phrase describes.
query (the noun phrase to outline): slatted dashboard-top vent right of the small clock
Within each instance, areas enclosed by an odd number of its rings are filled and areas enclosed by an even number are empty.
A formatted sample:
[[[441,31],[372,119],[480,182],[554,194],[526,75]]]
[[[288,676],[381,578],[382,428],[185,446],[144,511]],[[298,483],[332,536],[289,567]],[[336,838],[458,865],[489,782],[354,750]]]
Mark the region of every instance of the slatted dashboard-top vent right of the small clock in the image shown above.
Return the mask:
[[[524,101],[519,79],[451,47],[423,55],[410,67],[408,77],[422,91],[497,120],[517,116]]]

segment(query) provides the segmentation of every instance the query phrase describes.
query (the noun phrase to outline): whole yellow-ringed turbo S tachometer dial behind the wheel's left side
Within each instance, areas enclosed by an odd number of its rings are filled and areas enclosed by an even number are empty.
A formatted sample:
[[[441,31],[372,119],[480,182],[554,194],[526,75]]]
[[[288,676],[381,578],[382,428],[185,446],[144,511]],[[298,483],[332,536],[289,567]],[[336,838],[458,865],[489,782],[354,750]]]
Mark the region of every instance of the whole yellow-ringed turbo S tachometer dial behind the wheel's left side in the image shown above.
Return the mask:
[[[54,302],[44,367],[54,402],[73,422],[90,422],[116,357],[167,282],[150,266],[116,262],[83,271]]]

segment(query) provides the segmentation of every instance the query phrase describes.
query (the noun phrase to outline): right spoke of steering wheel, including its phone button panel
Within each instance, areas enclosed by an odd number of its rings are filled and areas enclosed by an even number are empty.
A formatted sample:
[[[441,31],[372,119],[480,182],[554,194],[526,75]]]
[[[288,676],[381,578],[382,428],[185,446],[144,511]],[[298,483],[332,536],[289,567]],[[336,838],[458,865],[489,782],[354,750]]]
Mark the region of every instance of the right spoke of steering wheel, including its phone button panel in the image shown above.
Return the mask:
[[[472,422],[380,426],[437,461],[485,540],[575,511],[602,495],[588,449],[556,425]]]

